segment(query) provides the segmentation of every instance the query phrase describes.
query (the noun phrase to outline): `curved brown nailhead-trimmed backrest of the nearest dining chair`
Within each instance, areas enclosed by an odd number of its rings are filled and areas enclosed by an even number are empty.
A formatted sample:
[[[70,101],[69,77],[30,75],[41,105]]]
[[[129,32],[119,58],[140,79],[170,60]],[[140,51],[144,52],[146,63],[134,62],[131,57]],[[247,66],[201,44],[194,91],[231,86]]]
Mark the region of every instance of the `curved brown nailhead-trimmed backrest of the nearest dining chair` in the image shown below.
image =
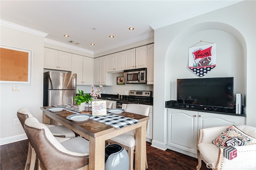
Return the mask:
[[[52,135],[48,127],[39,123],[35,117],[29,117],[25,120],[24,130],[46,170],[76,169],[89,164],[88,153],[67,150]]]

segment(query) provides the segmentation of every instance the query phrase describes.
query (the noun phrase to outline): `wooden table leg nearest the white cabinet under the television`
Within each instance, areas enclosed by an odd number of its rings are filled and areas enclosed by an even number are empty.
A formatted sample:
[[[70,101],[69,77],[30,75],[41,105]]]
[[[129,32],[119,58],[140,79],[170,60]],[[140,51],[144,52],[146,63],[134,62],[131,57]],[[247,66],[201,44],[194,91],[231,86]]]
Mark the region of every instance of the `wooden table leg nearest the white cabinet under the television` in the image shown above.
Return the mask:
[[[135,170],[146,169],[146,121],[141,123],[135,134]]]

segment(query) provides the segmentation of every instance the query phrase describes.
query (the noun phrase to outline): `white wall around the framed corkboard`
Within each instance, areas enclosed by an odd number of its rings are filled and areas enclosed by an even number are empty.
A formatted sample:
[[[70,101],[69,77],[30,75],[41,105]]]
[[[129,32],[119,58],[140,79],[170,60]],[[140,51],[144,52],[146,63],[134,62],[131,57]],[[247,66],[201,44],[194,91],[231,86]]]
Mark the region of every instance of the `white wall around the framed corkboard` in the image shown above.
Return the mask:
[[[17,110],[27,107],[42,120],[40,107],[43,103],[43,62],[44,37],[1,26],[1,44],[32,50],[32,85],[0,85],[0,143],[26,139],[19,123],[13,125]],[[20,91],[12,91],[12,86],[20,86]]]

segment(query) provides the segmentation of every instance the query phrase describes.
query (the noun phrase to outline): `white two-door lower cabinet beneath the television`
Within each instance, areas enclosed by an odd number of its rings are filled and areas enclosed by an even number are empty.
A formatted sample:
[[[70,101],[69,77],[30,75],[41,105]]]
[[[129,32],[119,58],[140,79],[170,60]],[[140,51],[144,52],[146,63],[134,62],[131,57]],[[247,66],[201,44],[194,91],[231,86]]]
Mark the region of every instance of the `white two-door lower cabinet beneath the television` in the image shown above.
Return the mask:
[[[168,148],[196,156],[199,129],[244,124],[245,117],[241,116],[168,108]]]

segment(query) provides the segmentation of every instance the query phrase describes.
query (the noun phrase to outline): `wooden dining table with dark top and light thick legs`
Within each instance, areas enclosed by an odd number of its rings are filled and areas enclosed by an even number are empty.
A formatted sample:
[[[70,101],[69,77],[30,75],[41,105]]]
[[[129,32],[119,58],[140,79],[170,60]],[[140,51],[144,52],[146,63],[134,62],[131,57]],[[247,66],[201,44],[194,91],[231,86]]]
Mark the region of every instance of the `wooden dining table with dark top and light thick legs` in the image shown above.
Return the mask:
[[[135,113],[122,112],[117,115],[137,119],[139,123],[127,125],[120,129],[116,129],[110,125],[86,119],[85,121],[72,121],[66,119],[67,116],[74,113],[62,110],[51,112],[46,108],[52,106],[40,107],[43,111],[43,123],[56,124],[56,122],[68,127],[81,137],[89,140],[89,170],[104,170],[105,169],[105,141],[136,129],[135,133],[135,170],[146,169],[146,121],[148,116]],[[84,112],[86,113],[86,112]],[[90,111],[88,112],[90,113]]]

